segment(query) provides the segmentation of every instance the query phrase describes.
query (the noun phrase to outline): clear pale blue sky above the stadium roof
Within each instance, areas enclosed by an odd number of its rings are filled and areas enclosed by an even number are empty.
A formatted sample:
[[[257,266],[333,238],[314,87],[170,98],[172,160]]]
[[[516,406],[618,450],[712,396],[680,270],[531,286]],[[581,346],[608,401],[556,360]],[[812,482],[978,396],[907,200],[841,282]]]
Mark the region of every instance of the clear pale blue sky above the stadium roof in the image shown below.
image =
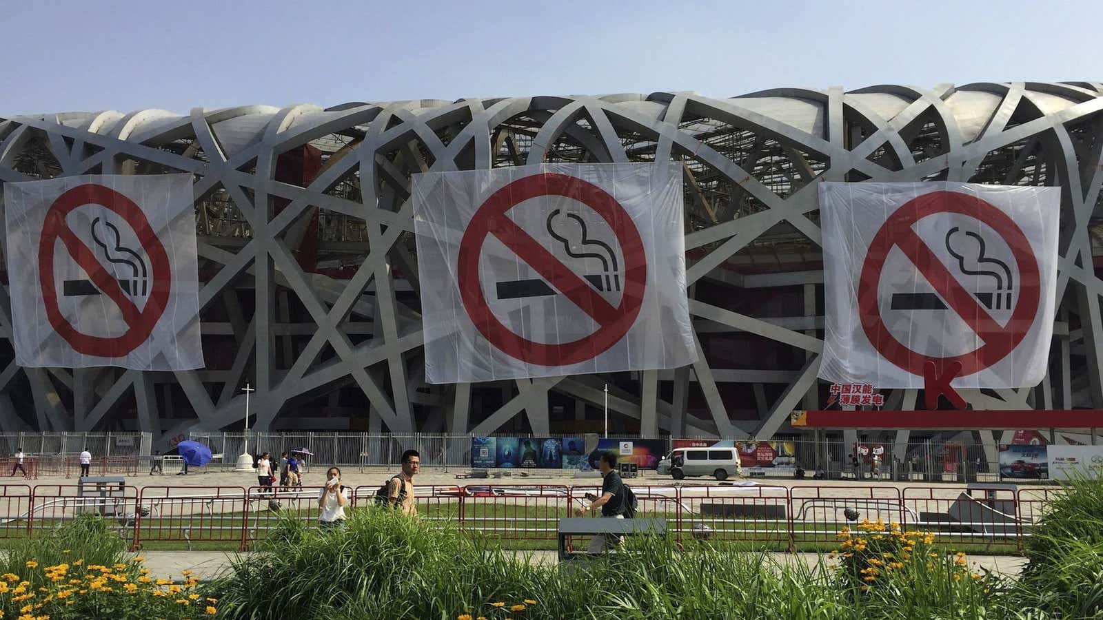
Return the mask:
[[[1103,81],[1097,2],[9,0],[0,117]]]

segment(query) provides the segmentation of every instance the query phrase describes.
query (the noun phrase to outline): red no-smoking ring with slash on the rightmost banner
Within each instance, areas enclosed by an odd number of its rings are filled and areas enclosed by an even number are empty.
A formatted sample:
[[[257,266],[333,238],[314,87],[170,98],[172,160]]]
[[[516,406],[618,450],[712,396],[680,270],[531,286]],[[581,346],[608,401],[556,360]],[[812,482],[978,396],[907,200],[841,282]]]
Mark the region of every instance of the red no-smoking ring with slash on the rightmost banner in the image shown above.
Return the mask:
[[[1017,301],[1007,323],[999,325],[954,278],[943,263],[912,229],[917,222],[936,213],[957,213],[974,217],[994,229],[1011,249],[1019,270]],[[898,246],[923,274],[928,282],[984,341],[968,353],[936,357],[918,353],[897,340],[881,319],[878,287],[889,250]],[[901,205],[874,236],[866,253],[858,281],[858,316],[869,342],[888,361],[912,374],[922,375],[923,365],[934,362],[939,368],[961,362],[961,375],[971,375],[1006,357],[1026,338],[1038,314],[1041,284],[1038,261],[1030,242],[1006,213],[992,204],[959,192],[931,192]]]

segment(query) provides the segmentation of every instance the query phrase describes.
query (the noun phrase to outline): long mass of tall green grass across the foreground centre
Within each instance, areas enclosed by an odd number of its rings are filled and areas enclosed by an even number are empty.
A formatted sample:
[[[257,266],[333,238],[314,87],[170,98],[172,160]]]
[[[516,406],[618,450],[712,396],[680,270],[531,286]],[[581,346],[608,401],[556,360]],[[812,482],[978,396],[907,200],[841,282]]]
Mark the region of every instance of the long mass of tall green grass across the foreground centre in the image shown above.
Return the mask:
[[[622,553],[548,566],[426,521],[366,510],[335,532],[286,524],[265,553],[235,562],[216,589],[222,616],[256,620],[997,617],[995,579],[970,578],[954,556],[923,553],[909,571],[872,581],[772,557],[640,537]]]

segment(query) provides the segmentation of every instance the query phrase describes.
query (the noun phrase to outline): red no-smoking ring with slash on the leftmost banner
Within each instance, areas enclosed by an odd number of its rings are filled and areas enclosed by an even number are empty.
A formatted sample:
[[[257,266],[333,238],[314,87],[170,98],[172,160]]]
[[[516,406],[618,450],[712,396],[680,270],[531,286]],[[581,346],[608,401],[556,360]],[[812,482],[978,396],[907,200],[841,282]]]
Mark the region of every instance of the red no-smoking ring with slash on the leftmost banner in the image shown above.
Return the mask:
[[[140,311],[124,295],[118,281],[107,272],[88,246],[65,222],[69,212],[86,204],[97,204],[117,213],[138,235],[138,240],[149,257],[150,277],[153,280],[149,298]],[[54,282],[54,245],[58,240],[65,245],[65,249],[96,287],[118,306],[127,323],[127,331],[122,335],[105,338],[82,333],[62,314],[57,306],[57,284]],[[153,325],[164,313],[172,286],[172,270],[164,246],[157,238],[157,233],[150,227],[141,209],[110,188],[85,183],[57,196],[46,211],[42,235],[39,238],[39,285],[50,324],[73,346],[74,351],[98,357],[122,357],[146,342],[153,331]]]

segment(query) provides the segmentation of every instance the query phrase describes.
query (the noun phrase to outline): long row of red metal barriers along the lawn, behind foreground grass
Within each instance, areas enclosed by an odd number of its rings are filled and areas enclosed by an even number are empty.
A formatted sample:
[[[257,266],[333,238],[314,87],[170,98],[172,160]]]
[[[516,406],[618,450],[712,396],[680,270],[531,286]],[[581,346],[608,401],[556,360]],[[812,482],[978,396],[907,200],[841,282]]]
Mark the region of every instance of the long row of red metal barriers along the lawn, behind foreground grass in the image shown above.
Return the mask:
[[[1016,552],[1060,489],[846,485],[633,485],[638,519],[662,519],[681,543],[827,550],[864,520],[931,532],[947,545]],[[374,504],[374,487],[347,489],[350,510]],[[590,485],[418,487],[421,519],[503,542],[553,548],[559,520],[599,490]],[[320,488],[0,485],[0,538],[49,536],[81,515],[106,519],[131,548],[195,544],[247,549],[287,519],[317,522]],[[585,542],[570,543],[576,548]]]

